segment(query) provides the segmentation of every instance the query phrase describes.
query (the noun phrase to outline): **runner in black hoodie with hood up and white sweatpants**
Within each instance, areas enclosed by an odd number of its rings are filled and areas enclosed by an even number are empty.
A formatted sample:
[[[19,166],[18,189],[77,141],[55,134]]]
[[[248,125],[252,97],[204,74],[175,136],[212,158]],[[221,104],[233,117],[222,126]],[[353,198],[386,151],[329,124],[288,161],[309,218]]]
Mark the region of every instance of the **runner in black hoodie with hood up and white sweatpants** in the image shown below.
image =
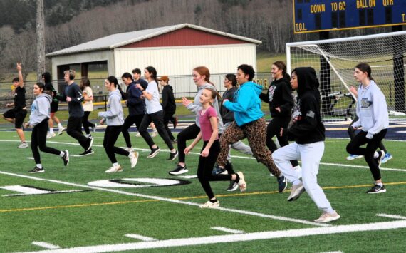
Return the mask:
[[[297,90],[298,101],[289,127],[281,128],[280,134],[288,135],[295,142],[276,150],[272,153],[272,158],[286,179],[293,183],[288,201],[297,200],[306,190],[318,209],[323,211],[315,222],[338,220],[340,215],[333,210],[317,182],[318,168],[324,153],[325,128],[321,122],[316,71],[313,68],[295,68],[292,71],[291,86]],[[302,161],[301,173],[292,170],[289,162],[298,158]]]

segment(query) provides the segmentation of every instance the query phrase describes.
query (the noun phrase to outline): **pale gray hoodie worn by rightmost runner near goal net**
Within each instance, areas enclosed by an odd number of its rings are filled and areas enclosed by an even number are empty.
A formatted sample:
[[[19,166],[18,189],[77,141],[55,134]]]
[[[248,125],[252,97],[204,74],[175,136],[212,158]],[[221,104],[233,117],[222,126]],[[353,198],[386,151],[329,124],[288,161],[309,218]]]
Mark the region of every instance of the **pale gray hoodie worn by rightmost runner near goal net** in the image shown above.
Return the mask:
[[[353,127],[362,126],[362,130],[368,132],[368,139],[372,139],[382,129],[389,128],[385,95],[373,80],[365,88],[362,84],[358,87],[357,116],[358,120],[353,123]]]

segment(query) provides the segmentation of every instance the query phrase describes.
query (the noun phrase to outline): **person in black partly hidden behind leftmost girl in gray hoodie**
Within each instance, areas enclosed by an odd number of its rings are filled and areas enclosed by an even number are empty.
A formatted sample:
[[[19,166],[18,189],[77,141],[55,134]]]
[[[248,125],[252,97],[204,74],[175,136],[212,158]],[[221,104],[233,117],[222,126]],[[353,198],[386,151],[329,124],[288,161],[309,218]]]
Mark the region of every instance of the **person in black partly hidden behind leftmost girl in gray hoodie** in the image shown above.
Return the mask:
[[[55,133],[53,133],[53,122],[55,121],[58,124],[58,135],[63,134],[63,131],[66,130],[61,124],[61,121],[56,117],[56,112],[58,111],[59,100],[56,98],[57,92],[56,89],[53,88],[52,85],[52,78],[51,73],[45,72],[42,74],[42,81],[45,83],[45,91],[50,91],[52,94],[52,101],[51,101],[51,116],[48,121],[49,126],[49,133],[46,135],[46,138],[53,138],[55,137]]]

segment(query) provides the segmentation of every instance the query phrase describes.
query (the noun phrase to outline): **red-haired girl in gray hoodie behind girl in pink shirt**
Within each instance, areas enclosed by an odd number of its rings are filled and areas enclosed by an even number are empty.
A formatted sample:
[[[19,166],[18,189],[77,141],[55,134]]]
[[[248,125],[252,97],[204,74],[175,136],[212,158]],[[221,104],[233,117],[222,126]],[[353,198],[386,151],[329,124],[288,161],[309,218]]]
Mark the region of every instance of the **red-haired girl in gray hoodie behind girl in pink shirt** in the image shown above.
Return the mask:
[[[186,163],[185,163],[184,149],[186,148],[186,141],[196,138],[197,135],[200,133],[200,123],[199,123],[199,115],[198,115],[199,110],[202,110],[202,103],[200,103],[200,96],[202,95],[202,91],[205,88],[211,88],[214,91],[216,91],[214,84],[210,82],[209,68],[206,68],[204,66],[196,67],[192,71],[192,76],[193,76],[194,83],[196,83],[196,85],[198,87],[198,91],[197,91],[196,95],[194,96],[193,103],[192,103],[192,101],[183,97],[182,105],[184,105],[187,109],[189,109],[194,114],[196,114],[196,120],[193,125],[189,125],[187,128],[182,130],[182,132],[180,132],[177,135],[177,150],[179,150],[178,163],[177,163],[177,166],[175,167],[175,170],[172,170],[169,172],[170,175],[181,175],[181,174],[184,174],[189,171],[189,170],[187,170]],[[222,118],[219,117],[219,115],[221,115],[220,110],[219,110],[219,98],[214,99],[213,107],[216,110],[216,113],[218,115],[217,128],[219,130],[219,134],[222,134],[224,126],[223,126]]]

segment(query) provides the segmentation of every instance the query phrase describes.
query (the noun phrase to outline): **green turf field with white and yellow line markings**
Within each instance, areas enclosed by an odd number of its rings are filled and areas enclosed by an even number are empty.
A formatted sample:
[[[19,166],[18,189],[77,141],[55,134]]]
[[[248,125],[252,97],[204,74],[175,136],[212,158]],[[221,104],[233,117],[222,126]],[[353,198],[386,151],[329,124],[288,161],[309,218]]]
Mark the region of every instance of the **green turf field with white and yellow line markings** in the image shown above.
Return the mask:
[[[0,132],[0,252],[405,252],[405,143],[385,141],[394,157],[381,166],[387,192],[367,195],[373,178],[365,161],[345,160],[348,140],[326,140],[318,181],[341,218],[321,225],[306,192],[288,202],[289,191],[279,194],[266,168],[241,153],[232,161],[247,191],[226,192],[228,182],[212,182],[221,208],[202,210],[207,197],[197,178],[168,175],[175,162],[166,160],[159,137],[162,151],[147,159],[144,140],[131,133],[138,164],[130,169],[129,159],[118,156],[124,171],[111,175],[103,133],[94,136],[95,154],[87,157],[72,156],[82,150],[66,133],[48,140],[69,150],[68,167],[41,153],[46,172],[29,174],[30,148],[16,148],[15,131]],[[185,175],[195,175],[198,152],[187,156]]]

